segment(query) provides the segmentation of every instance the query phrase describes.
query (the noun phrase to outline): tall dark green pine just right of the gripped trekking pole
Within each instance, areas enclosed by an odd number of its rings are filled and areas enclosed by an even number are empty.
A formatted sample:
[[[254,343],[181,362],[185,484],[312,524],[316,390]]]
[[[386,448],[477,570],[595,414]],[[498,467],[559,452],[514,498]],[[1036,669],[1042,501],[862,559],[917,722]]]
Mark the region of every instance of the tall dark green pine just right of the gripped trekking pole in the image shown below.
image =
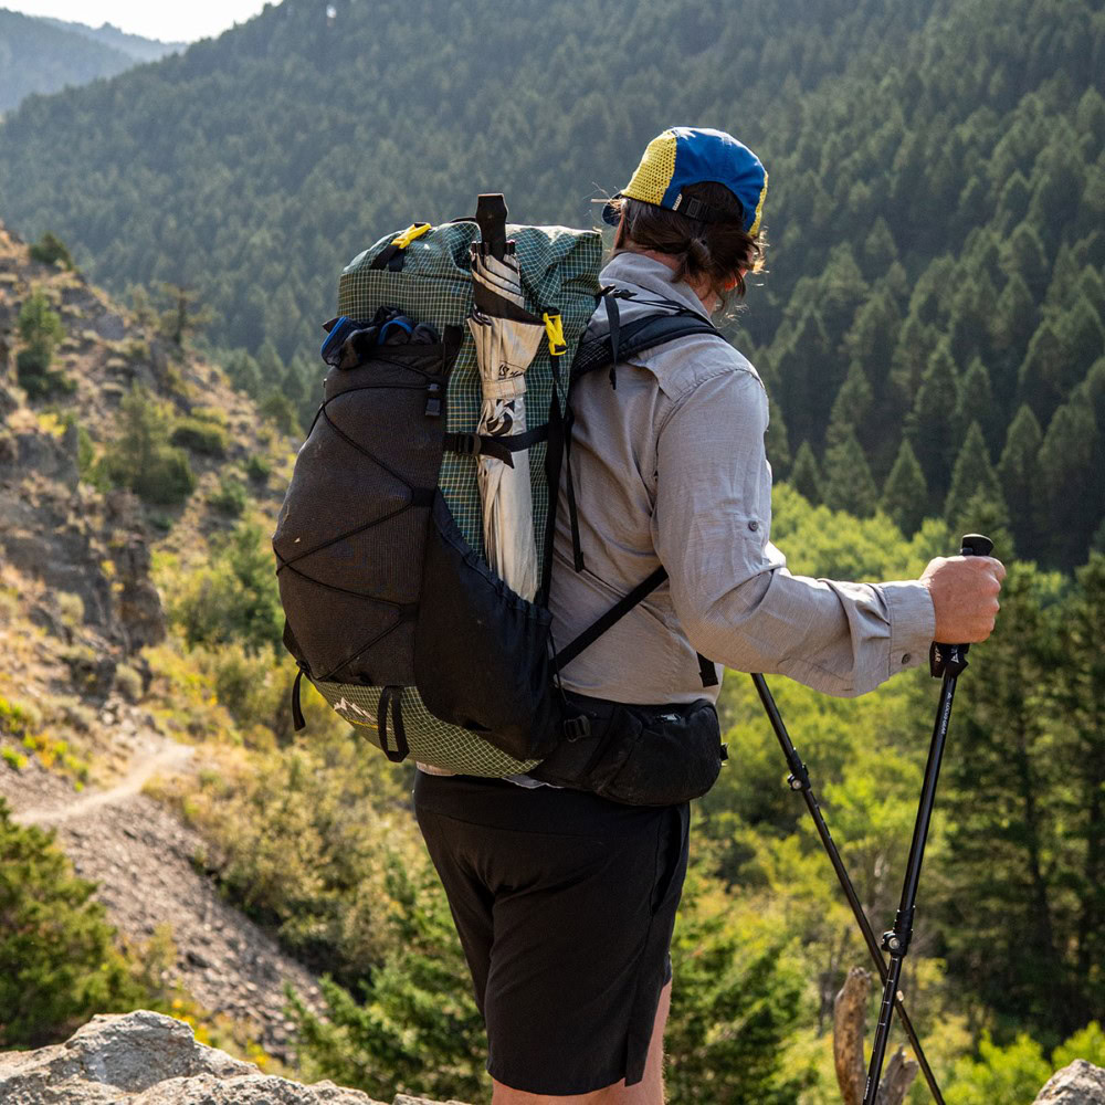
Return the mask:
[[[1048,861],[1061,802],[1048,711],[1040,708],[1052,663],[1041,582],[1028,567],[1011,567],[986,643],[987,677],[957,702],[961,753],[949,757],[941,779],[949,825],[944,932],[949,968],[989,1008],[1061,1032],[1065,972]]]

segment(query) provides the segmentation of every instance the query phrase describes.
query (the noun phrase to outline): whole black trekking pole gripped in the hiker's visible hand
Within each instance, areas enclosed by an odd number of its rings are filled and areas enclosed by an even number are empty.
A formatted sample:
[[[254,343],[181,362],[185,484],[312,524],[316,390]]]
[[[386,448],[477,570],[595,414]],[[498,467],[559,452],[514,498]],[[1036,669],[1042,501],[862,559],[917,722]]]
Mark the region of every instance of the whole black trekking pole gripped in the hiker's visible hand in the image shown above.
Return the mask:
[[[981,534],[967,534],[959,550],[961,556],[989,556],[993,541]],[[951,699],[956,693],[956,681],[967,666],[966,644],[939,644],[933,642],[929,654],[929,667],[934,678],[944,676],[940,687],[940,703],[936,711],[936,724],[933,727],[933,741],[928,748],[928,762],[925,765],[925,779],[920,787],[920,804],[917,808],[917,821],[913,828],[913,842],[909,844],[909,859],[906,862],[905,882],[902,884],[902,902],[894,927],[883,933],[883,948],[891,955],[890,968],[883,983],[883,1003],[878,1010],[878,1025],[875,1039],[871,1045],[871,1065],[867,1067],[867,1085],[863,1094],[863,1105],[875,1105],[878,1093],[878,1080],[883,1073],[883,1056],[886,1053],[886,1040],[891,1032],[891,1019],[894,1015],[894,997],[897,993],[898,979],[902,977],[902,960],[909,950],[913,939],[913,914],[917,904],[917,885],[920,882],[920,864],[925,857],[925,844],[928,842],[928,824],[933,818],[933,804],[936,800],[936,783],[940,777],[940,760],[944,758],[944,745],[948,736],[948,722],[951,718]]]

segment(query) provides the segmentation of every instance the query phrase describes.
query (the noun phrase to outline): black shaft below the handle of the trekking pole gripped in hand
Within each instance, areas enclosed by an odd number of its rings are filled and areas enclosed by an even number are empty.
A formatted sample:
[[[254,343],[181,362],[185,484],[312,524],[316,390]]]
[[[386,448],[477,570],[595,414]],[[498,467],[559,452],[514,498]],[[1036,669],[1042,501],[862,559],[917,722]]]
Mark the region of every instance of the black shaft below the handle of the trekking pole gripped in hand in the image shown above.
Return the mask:
[[[863,1094],[863,1105],[874,1105],[875,1095],[878,1093],[878,1081],[882,1077],[883,1060],[886,1055],[886,1042],[891,1034],[891,1019],[894,1015],[898,980],[902,977],[902,960],[905,959],[905,955],[909,950],[909,939],[913,935],[913,914],[917,904],[920,865],[925,859],[925,845],[928,843],[928,828],[933,819],[933,806],[936,801],[936,785],[940,777],[944,746],[948,738],[948,722],[951,719],[951,701],[956,693],[956,680],[957,676],[950,673],[944,676],[940,704],[936,712],[936,724],[933,727],[933,740],[928,746],[928,762],[925,765],[920,806],[917,809],[917,820],[913,827],[909,859],[906,864],[905,881],[902,884],[902,899],[894,919],[894,929],[885,937],[886,947],[891,954],[891,964],[883,979],[883,1001],[878,1010],[878,1024],[875,1027],[874,1041],[871,1045],[871,1065],[867,1067],[867,1084]]]

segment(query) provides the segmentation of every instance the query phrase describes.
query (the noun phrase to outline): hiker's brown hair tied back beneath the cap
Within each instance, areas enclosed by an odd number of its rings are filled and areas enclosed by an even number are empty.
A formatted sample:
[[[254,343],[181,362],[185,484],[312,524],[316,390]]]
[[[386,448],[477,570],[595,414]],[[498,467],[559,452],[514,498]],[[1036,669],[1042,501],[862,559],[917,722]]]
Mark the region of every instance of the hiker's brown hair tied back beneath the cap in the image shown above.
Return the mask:
[[[745,280],[740,270],[762,272],[767,242],[761,232],[749,234],[741,224],[740,202],[725,185],[703,180],[683,189],[684,202],[696,199],[728,213],[733,221],[703,222],[678,211],[628,198],[613,200],[622,221],[614,240],[614,253],[655,250],[678,262],[672,282],[696,283],[703,278],[722,306],[735,293],[743,297]],[[725,285],[736,280],[736,285]]]

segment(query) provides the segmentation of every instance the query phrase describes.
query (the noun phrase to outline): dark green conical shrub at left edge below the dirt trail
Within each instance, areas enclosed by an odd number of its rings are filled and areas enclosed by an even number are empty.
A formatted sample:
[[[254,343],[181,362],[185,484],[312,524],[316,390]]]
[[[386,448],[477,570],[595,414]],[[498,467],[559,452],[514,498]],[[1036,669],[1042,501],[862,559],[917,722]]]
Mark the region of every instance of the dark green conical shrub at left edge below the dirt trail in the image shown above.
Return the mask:
[[[0,799],[0,1048],[40,1048],[94,1013],[145,1003],[94,891]]]

